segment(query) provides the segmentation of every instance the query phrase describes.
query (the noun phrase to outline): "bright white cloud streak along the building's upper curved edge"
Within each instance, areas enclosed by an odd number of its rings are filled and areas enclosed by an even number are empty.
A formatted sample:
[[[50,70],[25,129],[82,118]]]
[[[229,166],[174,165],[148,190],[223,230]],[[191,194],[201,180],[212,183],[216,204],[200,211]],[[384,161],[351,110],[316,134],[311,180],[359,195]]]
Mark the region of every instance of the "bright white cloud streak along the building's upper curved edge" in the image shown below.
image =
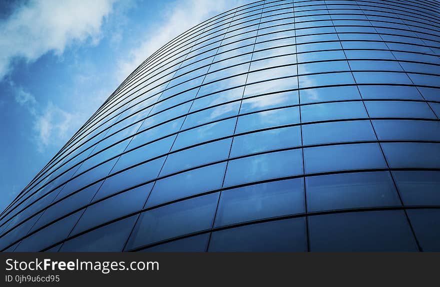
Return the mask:
[[[139,46],[119,61],[116,78],[122,82],[137,66],[171,39],[197,24],[243,5],[245,0],[178,0],[167,5],[163,21],[155,23],[141,38]],[[249,1],[246,1],[249,2]]]

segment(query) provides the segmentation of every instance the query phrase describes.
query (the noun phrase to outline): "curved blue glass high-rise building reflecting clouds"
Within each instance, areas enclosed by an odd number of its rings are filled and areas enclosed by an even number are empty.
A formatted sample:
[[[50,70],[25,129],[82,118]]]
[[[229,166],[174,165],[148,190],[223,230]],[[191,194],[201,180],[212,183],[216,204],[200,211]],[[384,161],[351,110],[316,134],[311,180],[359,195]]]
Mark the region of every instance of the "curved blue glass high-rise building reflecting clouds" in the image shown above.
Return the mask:
[[[440,250],[440,2],[259,1],[146,59],[4,251]]]

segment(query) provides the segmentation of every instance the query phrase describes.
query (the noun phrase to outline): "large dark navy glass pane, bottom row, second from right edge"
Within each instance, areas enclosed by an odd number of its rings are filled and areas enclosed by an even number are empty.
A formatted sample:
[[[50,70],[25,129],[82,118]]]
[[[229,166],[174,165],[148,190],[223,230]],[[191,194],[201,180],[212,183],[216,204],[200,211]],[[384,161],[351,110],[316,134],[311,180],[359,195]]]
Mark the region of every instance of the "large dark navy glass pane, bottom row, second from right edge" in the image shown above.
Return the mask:
[[[308,217],[310,251],[417,251],[402,210]]]

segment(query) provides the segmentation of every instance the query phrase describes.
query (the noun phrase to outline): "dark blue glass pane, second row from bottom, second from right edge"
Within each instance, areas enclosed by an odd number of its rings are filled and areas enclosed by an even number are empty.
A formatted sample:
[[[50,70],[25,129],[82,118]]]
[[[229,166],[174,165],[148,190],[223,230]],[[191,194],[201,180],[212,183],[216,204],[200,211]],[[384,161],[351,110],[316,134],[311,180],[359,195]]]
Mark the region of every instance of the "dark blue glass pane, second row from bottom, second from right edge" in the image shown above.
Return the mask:
[[[310,176],[305,190],[309,212],[401,205],[386,171]]]

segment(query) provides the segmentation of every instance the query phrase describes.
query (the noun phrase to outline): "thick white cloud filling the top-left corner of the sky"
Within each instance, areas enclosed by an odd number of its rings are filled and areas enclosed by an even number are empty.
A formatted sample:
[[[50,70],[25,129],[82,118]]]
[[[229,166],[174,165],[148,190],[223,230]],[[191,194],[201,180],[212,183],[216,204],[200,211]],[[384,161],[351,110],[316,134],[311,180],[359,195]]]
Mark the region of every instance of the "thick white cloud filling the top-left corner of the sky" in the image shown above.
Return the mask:
[[[114,2],[31,0],[15,9],[0,23],[0,80],[15,58],[33,62],[49,51],[61,55],[75,41],[96,44]]]

